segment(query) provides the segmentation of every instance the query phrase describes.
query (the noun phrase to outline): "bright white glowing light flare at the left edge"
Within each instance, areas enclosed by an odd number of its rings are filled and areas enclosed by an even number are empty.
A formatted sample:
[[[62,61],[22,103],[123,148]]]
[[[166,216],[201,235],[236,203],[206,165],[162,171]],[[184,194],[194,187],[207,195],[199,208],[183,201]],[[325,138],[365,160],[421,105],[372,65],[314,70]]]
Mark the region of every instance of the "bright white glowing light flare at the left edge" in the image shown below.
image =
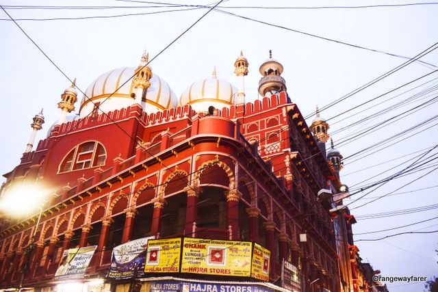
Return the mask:
[[[33,215],[40,211],[49,198],[47,189],[40,183],[18,183],[8,188],[0,198],[0,211],[8,215]]]

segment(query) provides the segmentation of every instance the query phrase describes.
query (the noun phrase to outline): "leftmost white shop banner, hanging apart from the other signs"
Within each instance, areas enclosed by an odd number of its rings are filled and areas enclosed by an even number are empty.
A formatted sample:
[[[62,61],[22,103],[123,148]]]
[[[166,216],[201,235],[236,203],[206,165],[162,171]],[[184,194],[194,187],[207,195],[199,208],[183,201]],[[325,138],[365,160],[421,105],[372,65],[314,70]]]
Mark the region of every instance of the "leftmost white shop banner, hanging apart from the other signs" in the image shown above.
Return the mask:
[[[57,268],[53,280],[83,278],[96,248],[97,245],[92,245],[64,250],[60,267]]]

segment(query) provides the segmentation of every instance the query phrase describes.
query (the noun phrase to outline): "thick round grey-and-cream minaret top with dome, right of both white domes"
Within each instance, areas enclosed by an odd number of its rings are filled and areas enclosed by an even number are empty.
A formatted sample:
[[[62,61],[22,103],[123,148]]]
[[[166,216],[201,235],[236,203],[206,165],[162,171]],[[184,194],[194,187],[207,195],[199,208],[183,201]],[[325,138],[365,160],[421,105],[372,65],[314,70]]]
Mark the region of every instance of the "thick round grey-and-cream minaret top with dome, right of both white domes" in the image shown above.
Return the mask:
[[[259,94],[265,96],[266,92],[277,93],[286,91],[286,81],[281,77],[283,65],[276,59],[272,59],[272,51],[269,50],[269,59],[267,59],[259,68],[263,76],[259,81]]]

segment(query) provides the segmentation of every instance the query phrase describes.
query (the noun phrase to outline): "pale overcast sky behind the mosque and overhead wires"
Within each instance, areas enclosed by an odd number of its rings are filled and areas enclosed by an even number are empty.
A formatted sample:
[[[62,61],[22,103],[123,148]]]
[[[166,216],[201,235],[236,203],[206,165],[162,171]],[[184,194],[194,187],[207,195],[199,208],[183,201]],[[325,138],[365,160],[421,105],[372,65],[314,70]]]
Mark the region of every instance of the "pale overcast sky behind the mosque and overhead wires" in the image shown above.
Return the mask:
[[[207,11],[180,7],[144,8],[151,4],[140,2],[0,0],[1,5],[125,7],[93,10],[7,9],[17,19],[142,14],[114,18],[17,21],[70,79],[77,78],[78,88],[82,91],[103,72],[137,66],[145,48],[154,57]],[[180,2],[183,1],[172,1]],[[314,113],[315,105],[324,107],[336,101],[438,42],[438,5],[281,10],[226,6],[315,8],[414,2],[421,1],[224,1],[220,10],[264,23],[212,11],[151,63],[153,74],[166,80],[177,96],[194,81],[210,77],[214,66],[217,67],[219,79],[237,85],[233,64],[242,50],[250,64],[250,73],[245,81],[246,100],[253,101],[259,98],[259,66],[272,49],[273,57],[285,68],[283,77],[290,98],[302,114],[308,116]],[[209,3],[190,1],[192,5]],[[136,5],[142,8],[133,9]],[[147,14],[181,9],[185,11]],[[0,11],[0,18],[0,97],[3,103],[0,107],[0,172],[5,174],[19,162],[31,134],[31,119],[41,108],[44,108],[46,123],[37,139],[47,135],[47,129],[60,116],[60,109],[57,109],[60,94],[70,82],[12,21],[7,21],[8,16],[3,11]],[[437,163],[433,160],[438,153],[437,148],[433,148],[437,145],[437,118],[434,117],[438,108],[435,104],[438,72],[433,70],[437,70],[438,50],[428,53],[421,60],[425,63],[409,64],[321,114],[329,120],[329,133],[333,133],[336,148],[346,158],[341,178],[344,184],[350,186],[352,193],[405,169],[412,170],[407,175],[377,185],[380,187],[374,191],[374,188],[370,188],[355,194],[345,202],[351,203],[348,207],[357,217],[357,224],[353,228],[361,258],[364,262],[370,262],[374,269],[380,269],[382,276],[438,276],[438,258],[434,252],[438,248],[438,233],[359,241],[414,230],[438,230],[438,219],[429,220],[437,217],[438,204],[438,170],[434,171]],[[428,73],[431,74],[385,94]],[[366,101],[370,102],[353,109]],[[79,103],[76,105],[79,108]],[[395,105],[398,107],[394,109]],[[361,122],[389,107],[390,111]],[[343,114],[344,111],[348,112]],[[307,118],[308,124],[311,119]],[[417,124],[420,125],[407,135],[401,135]],[[358,135],[362,132],[367,135]],[[393,135],[396,135],[395,139],[391,139]],[[364,148],[385,139],[390,139],[387,144],[363,152]],[[376,150],[378,152],[374,153]],[[416,164],[411,165],[414,162]],[[368,194],[369,191],[372,192]],[[355,201],[365,194],[368,195]],[[386,194],[389,195],[361,207],[361,204],[374,200],[371,198]],[[398,215],[388,213],[392,211],[400,212]],[[377,213],[382,214],[374,215]],[[371,216],[371,219],[364,216]],[[358,234],[424,220],[429,221],[380,233]],[[422,282],[387,284],[391,292],[424,289]]]

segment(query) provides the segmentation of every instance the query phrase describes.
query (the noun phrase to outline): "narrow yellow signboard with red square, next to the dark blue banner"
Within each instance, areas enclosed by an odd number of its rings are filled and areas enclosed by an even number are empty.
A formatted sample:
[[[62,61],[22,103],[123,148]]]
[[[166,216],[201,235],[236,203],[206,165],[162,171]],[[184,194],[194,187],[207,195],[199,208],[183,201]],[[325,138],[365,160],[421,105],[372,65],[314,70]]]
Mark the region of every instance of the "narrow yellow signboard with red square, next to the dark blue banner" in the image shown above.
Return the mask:
[[[144,272],[179,272],[179,258],[181,258],[181,238],[149,240]]]

